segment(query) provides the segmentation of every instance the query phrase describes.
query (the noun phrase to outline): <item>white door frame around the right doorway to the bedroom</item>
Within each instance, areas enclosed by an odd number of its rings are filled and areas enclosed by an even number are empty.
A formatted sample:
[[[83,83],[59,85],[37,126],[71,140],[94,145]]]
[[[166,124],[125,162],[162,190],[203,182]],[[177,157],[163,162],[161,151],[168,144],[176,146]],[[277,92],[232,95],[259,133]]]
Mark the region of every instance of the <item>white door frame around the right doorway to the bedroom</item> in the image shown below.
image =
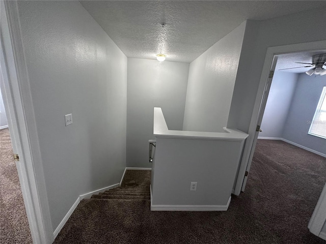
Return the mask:
[[[246,144],[244,145],[243,156],[241,158],[239,173],[234,188],[235,195],[239,195],[240,192],[244,191],[244,189],[246,188],[247,178],[248,178],[248,173],[246,172],[250,171],[252,155],[255,151],[256,141],[258,138],[258,133],[256,133],[256,128],[258,125],[259,117],[260,115],[262,116],[262,114],[260,114],[260,111],[263,112],[266,106],[268,92],[265,93],[265,91],[269,91],[270,89],[271,82],[268,82],[270,80],[270,78],[268,77],[271,71],[271,67],[273,65],[274,57],[279,54],[286,54],[286,53],[324,50],[325,47],[326,47],[326,40],[267,48],[264,65],[263,65],[259,86],[257,90],[256,100],[254,104],[254,109],[250,120],[250,125],[248,130],[249,136],[246,139]]]

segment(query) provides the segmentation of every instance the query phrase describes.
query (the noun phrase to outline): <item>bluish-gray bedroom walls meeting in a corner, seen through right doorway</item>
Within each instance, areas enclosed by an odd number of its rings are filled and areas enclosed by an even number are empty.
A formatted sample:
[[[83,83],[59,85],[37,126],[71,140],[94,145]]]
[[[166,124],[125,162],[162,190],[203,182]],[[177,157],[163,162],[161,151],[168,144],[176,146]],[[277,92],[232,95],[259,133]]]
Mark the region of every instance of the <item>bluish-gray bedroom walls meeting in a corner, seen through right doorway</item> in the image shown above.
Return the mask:
[[[259,137],[283,138],[326,154],[325,139],[308,134],[325,85],[324,76],[276,72]]]

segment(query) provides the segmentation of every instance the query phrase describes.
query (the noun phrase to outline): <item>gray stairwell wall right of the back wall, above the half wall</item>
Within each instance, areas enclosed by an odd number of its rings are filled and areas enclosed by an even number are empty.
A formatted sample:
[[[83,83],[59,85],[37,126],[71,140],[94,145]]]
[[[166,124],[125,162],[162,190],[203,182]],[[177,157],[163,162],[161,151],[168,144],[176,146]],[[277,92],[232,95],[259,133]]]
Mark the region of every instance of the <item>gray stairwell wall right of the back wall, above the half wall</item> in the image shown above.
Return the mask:
[[[183,130],[223,132],[245,28],[246,21],[191,63]]]

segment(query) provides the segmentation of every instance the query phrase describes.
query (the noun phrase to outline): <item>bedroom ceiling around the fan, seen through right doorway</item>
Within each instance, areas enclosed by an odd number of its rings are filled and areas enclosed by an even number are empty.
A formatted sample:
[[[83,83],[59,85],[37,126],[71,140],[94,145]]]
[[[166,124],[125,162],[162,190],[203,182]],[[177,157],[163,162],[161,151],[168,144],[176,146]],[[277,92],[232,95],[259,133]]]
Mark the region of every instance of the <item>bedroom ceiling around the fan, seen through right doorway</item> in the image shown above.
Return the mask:
[[[315,54],[320,54],[320,53],[326,53],[326,49],[320,51],[313,51],[313,52],[300,52],[300,53],[289,53],[289,54],[278,55],[275,70],[308,66],[304,64],[295,64],[295,62],[312,63],[311,57]],[[282,71],[291,72],[291,73],[305,73],[312,68],[314,67],[297,68],[297,69],[282,70]]]

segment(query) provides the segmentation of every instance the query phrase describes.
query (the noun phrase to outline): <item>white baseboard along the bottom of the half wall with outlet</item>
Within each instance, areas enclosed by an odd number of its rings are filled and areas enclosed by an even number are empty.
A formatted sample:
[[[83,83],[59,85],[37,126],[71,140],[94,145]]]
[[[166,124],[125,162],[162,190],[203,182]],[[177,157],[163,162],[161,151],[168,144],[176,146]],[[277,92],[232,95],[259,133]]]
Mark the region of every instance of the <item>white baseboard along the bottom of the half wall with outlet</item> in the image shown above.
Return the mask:
[[[226,211],[228,210],[231,196],[226,205],[153,205],[151,211]]]

